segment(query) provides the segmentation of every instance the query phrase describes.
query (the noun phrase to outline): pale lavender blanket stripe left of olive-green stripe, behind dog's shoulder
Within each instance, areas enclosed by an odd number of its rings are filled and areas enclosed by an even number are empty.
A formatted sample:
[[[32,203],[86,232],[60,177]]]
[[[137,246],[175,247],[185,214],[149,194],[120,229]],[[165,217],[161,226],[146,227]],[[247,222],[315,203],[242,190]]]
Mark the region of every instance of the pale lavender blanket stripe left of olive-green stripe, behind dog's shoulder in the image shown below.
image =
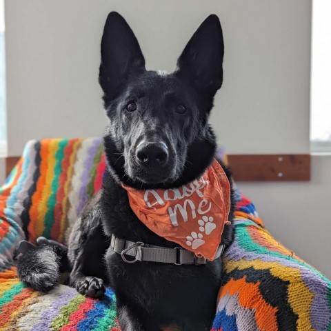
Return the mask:
[[[77,214],[81,213],[84,205],[88,201],[88,182],[90,181],[90,170],[93,166],[93,159],[100,146],[101,139],[94,139],[92,145],[88,149],[86,161],[83,165],[83,174],[81,175],[81,188],[79,189],[79,205],[77,208]]]

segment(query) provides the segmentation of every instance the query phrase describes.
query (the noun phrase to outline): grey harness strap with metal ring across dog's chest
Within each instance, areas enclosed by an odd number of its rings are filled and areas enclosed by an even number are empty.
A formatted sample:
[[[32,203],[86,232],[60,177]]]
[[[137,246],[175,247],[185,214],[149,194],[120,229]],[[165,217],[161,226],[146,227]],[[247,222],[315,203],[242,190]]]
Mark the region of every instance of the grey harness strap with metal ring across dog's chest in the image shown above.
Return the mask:
[[[134,263],[137,261],[149,261],[160,263],[173,263],[176,265],[181,264],[195,264],[203,265],[210,262],[210,260],[204,257],[197,257],[193,252],[185,250],[181,247],[166,248],[155,245],[148,245],[141,241],[129,241],[125,239],[119,239],[112,234],[110,241],[110,247],[117,254],[121,254],[123,261],[126,263]],[[223,253],[225,245],[219,245],[217,253],[214,259],[217,259]],[[126,256],[134,257],[134,259],[127,259]]]

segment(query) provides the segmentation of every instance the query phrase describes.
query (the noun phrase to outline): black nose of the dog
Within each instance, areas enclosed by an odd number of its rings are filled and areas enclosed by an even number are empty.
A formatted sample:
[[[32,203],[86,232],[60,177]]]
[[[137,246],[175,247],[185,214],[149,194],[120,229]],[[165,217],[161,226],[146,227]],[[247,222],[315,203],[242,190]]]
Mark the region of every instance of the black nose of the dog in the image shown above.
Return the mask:
[[[138,163],[146,167],[165,165],[168,157],[168,148],[165,143],[141,143],[136,152]]]

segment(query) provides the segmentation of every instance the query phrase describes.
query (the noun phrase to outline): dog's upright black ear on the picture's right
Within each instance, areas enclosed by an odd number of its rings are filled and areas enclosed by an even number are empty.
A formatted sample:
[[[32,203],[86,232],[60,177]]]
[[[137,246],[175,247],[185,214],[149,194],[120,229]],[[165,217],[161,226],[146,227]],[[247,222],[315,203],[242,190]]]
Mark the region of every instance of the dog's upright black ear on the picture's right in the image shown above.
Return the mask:
[[[212,14],[201,23],[179,57],[177,74],[212,95],[223,81],[223,34],[219,18]]]

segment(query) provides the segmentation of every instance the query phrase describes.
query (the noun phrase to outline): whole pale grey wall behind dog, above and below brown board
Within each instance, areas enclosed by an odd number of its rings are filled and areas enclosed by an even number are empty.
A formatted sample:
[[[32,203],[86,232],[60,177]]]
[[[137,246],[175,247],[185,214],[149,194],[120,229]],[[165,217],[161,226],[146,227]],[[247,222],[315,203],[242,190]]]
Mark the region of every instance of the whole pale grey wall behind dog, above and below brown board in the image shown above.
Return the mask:
[[[173,70],[194,29],[218,14],[219,142],[229,153],[309,152],[310,0],[6,0],[11,155],[31,138],[103,133],[99,43],[111,10],[130,23],[148,68],[162,70]],[[309,183],[240,183],[275,237],[329,277],[330,165],[314,157]]]

